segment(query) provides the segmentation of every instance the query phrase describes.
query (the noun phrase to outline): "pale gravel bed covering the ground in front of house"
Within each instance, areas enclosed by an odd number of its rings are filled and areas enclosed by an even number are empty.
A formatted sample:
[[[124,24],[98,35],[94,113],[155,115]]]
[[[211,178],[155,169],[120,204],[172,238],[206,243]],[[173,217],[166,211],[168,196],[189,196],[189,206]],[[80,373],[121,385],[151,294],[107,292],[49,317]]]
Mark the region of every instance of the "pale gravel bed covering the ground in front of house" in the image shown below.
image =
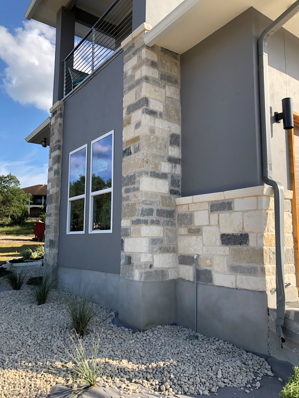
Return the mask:
[[[1,398],[47,397],[51,386],[72,382],[59,360],[67,359],[65,348],[72,350],[69,297],[53,290],[48,302],[37,306],[28,290],[0,293]],[[101,334],[105,362],[99,383],[121,395],[150,391],[208,396],[225,386],[249,392],[260,387],[263,375],[273,376],[263,358],[230,343],[199,334],[198,339],[188,339],[193,332],[181,326],[133,334],[112,323],[114,312],[91,305],[95,316],[82,344],[91,355],[94,332]]]

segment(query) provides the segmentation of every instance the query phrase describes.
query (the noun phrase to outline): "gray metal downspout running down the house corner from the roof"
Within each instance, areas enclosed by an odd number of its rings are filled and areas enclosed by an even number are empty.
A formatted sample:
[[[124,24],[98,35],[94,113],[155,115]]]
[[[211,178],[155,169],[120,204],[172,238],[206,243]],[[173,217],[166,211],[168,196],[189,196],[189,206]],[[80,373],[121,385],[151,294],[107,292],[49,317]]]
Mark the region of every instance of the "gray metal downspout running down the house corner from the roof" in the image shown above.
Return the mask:
[[[275,248],[276,248],[276,332],[279,340],[285,342],[283,325],[285,319],[285,244],[284,244],[284,187],[278,181],[273,180],[271,159],[271,121],[268,82],[268,39],[280,29],[289,19],[299,11],[299,0],[292,4],[275,21],[273,21],[259,38],[259,76],[260,76],[260,109],[261,109],[261,133],[263,152],[263,180],[271,185],[274,190],[275,211]]]

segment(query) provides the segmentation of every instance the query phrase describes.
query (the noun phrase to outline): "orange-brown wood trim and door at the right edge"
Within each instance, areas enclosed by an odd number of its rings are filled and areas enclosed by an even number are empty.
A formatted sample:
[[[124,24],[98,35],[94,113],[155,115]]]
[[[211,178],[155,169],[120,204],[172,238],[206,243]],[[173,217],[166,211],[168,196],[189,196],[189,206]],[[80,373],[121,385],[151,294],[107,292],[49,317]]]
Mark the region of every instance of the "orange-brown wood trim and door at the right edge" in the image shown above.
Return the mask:
[[[299,113],[294,112],[294,123],[295,123],[295,128],[289,130],[289,148],[290,148],[291,185],[293,191],[293,225],[294,225],[295,255],[296,255],[297,279],[299,280],[299,219],[298,219]]]

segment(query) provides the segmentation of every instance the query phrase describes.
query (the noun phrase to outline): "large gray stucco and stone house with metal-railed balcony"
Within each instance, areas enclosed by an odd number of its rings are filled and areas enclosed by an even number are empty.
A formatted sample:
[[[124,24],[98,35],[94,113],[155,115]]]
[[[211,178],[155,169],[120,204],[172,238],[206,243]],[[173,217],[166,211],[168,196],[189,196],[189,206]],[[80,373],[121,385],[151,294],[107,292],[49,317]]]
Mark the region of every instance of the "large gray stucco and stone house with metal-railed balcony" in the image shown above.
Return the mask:
[[[27,138],[50,146],[45,263],[60,288],[140,329],[194,329],[198,255],[197,330],[298,363],[295,309],[283,350],[281,333],[284,295],[298,298],[299,152],[274,117],[285,97],[299,112],[295,11],[258,55],[289,5],[30,2],[28,19],[56,27],[51,121]],[[264,181],[282,184],[275,204]]]

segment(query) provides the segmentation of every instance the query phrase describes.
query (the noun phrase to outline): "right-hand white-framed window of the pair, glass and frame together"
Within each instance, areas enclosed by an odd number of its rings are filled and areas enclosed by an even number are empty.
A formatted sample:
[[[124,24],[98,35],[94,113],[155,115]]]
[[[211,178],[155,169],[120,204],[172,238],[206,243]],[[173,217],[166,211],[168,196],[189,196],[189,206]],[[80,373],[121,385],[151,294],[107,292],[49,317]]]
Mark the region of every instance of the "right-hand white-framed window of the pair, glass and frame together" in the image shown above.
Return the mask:
[[[114,130],[91,142],[89,233],[112,232]]]

